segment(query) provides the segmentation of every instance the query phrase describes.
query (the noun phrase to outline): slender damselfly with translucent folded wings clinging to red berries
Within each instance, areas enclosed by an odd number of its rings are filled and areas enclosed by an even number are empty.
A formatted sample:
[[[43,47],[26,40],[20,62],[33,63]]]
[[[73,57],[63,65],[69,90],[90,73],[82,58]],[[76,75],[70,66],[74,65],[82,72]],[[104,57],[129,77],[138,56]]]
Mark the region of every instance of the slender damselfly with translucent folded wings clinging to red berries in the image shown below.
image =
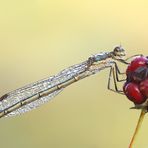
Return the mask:
[[[119,80],[118,75],[125,73],[121,73],[117,66],[117,62],[128,64],[128,59],[123,59],[123,57],[125,57],[125,50],[117,46],[111,52],[95,54],[88,60],[64,69],[57,75],[7,93],[0,98],[0,117],[15,116],[30,111],[49,101],[68,85],[106,68],[110,68],[108,89],[123,94],[116,84],[117,81],[124,81],[124,79]],[[114,89],[110,86],[112,76]]]

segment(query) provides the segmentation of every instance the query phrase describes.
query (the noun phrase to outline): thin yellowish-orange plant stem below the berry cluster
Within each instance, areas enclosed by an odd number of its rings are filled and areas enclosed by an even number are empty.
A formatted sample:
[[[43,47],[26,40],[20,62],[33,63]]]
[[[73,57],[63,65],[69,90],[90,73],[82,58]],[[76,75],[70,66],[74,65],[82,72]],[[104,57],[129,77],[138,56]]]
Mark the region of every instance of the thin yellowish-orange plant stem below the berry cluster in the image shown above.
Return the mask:
[[[138,120],[136,129],[135,129],[134,135],[133,135],[133,137],[132,137],[132,140],[131,140],[131,142],[130,142],[129,148],[133,148],[133,144],[134,144],[135,139],[136,139],[136,137],[137,137],[137,135],[138,135],[139,129],[140,129],[140,127],[141,127],[141,124],[142,124],[142,121],[143,121],[143,119],[144,119],[144,115],[146,114],[146,112],[147,112],[146,109],[142,109],[142,110],[141,110],[141,114],[140,114],[140,116],[139,116],[139,120]]]

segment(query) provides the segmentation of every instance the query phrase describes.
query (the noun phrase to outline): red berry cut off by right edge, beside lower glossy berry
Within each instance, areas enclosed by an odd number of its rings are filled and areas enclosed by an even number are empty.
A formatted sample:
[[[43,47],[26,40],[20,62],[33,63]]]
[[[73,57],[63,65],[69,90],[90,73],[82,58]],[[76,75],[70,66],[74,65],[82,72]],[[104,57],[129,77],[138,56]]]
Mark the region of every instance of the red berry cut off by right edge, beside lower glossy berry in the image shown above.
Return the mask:
[[[141,93],[148,98],[148,78],[140,83]]]

